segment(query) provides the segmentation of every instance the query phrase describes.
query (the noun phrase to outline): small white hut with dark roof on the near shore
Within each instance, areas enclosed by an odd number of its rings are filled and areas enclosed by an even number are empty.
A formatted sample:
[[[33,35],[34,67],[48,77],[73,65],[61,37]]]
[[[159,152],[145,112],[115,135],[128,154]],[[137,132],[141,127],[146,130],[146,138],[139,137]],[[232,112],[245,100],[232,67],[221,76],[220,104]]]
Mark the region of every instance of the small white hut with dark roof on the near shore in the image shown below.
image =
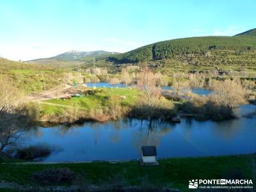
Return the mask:
[[[142,164],[158,164],[156,160],[156,146],[141,147],[141,163]]]

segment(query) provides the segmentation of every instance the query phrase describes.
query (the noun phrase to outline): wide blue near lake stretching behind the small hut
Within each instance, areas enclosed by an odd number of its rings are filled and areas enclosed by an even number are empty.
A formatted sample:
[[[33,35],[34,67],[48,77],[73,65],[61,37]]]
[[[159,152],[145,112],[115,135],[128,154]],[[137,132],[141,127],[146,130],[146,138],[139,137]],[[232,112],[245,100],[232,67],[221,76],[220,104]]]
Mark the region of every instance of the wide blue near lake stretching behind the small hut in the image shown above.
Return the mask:
[[[253,111],[256,106],[244,105],[236,113],[243,116]],[[224,122],[182,118],[180,124],[136,119],[86,122],[71,127],[37,127],[28,138],[29,145],[61,149],[44,161],[138,159],[141,145],[156,145],[160,158],[247,154],[256,152],[256,116]]]

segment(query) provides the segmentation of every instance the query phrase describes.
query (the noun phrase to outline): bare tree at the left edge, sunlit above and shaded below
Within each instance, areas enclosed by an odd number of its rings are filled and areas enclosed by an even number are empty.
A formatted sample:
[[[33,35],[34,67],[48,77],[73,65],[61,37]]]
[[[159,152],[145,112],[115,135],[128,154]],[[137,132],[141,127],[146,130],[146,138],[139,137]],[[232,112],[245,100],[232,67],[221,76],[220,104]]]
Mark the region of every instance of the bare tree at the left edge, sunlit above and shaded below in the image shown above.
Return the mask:
[[[0,152],[20,139],[24,129],[36,119],[35,109],[35,105],[24,105],[22,95],[11,81],[0,79]]]

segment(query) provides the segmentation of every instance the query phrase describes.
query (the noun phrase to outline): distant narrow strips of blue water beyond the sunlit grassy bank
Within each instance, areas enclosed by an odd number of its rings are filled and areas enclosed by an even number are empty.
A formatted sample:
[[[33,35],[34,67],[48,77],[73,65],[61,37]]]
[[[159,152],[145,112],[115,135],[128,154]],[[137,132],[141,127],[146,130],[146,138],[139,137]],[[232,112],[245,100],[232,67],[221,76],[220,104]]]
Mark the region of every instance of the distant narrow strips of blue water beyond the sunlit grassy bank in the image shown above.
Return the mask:
[[[93,87],[93,83],[86,83],[88,87]],[[97,87],[118,87],[124,88],[126,87],[125,84],[110,84],[107,82],[97,82],[95,83]],[[161,86],[163,90],[173,90],[172,86]],[[191,88],[191,92],[196,93],[198,95],[209,95],[212,93],[211,90],[207,90],[205,88]]]

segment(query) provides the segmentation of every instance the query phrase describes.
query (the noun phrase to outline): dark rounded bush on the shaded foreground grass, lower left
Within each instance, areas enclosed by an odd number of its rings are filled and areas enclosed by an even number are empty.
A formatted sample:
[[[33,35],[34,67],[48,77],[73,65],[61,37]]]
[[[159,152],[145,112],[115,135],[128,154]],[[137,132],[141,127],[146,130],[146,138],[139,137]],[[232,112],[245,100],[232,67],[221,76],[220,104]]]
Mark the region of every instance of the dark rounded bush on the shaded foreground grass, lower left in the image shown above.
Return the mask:
[[[38,184],[70,184],[77,178],[77,174],[67,168],[48,169],[33,173],[31,179]]]

